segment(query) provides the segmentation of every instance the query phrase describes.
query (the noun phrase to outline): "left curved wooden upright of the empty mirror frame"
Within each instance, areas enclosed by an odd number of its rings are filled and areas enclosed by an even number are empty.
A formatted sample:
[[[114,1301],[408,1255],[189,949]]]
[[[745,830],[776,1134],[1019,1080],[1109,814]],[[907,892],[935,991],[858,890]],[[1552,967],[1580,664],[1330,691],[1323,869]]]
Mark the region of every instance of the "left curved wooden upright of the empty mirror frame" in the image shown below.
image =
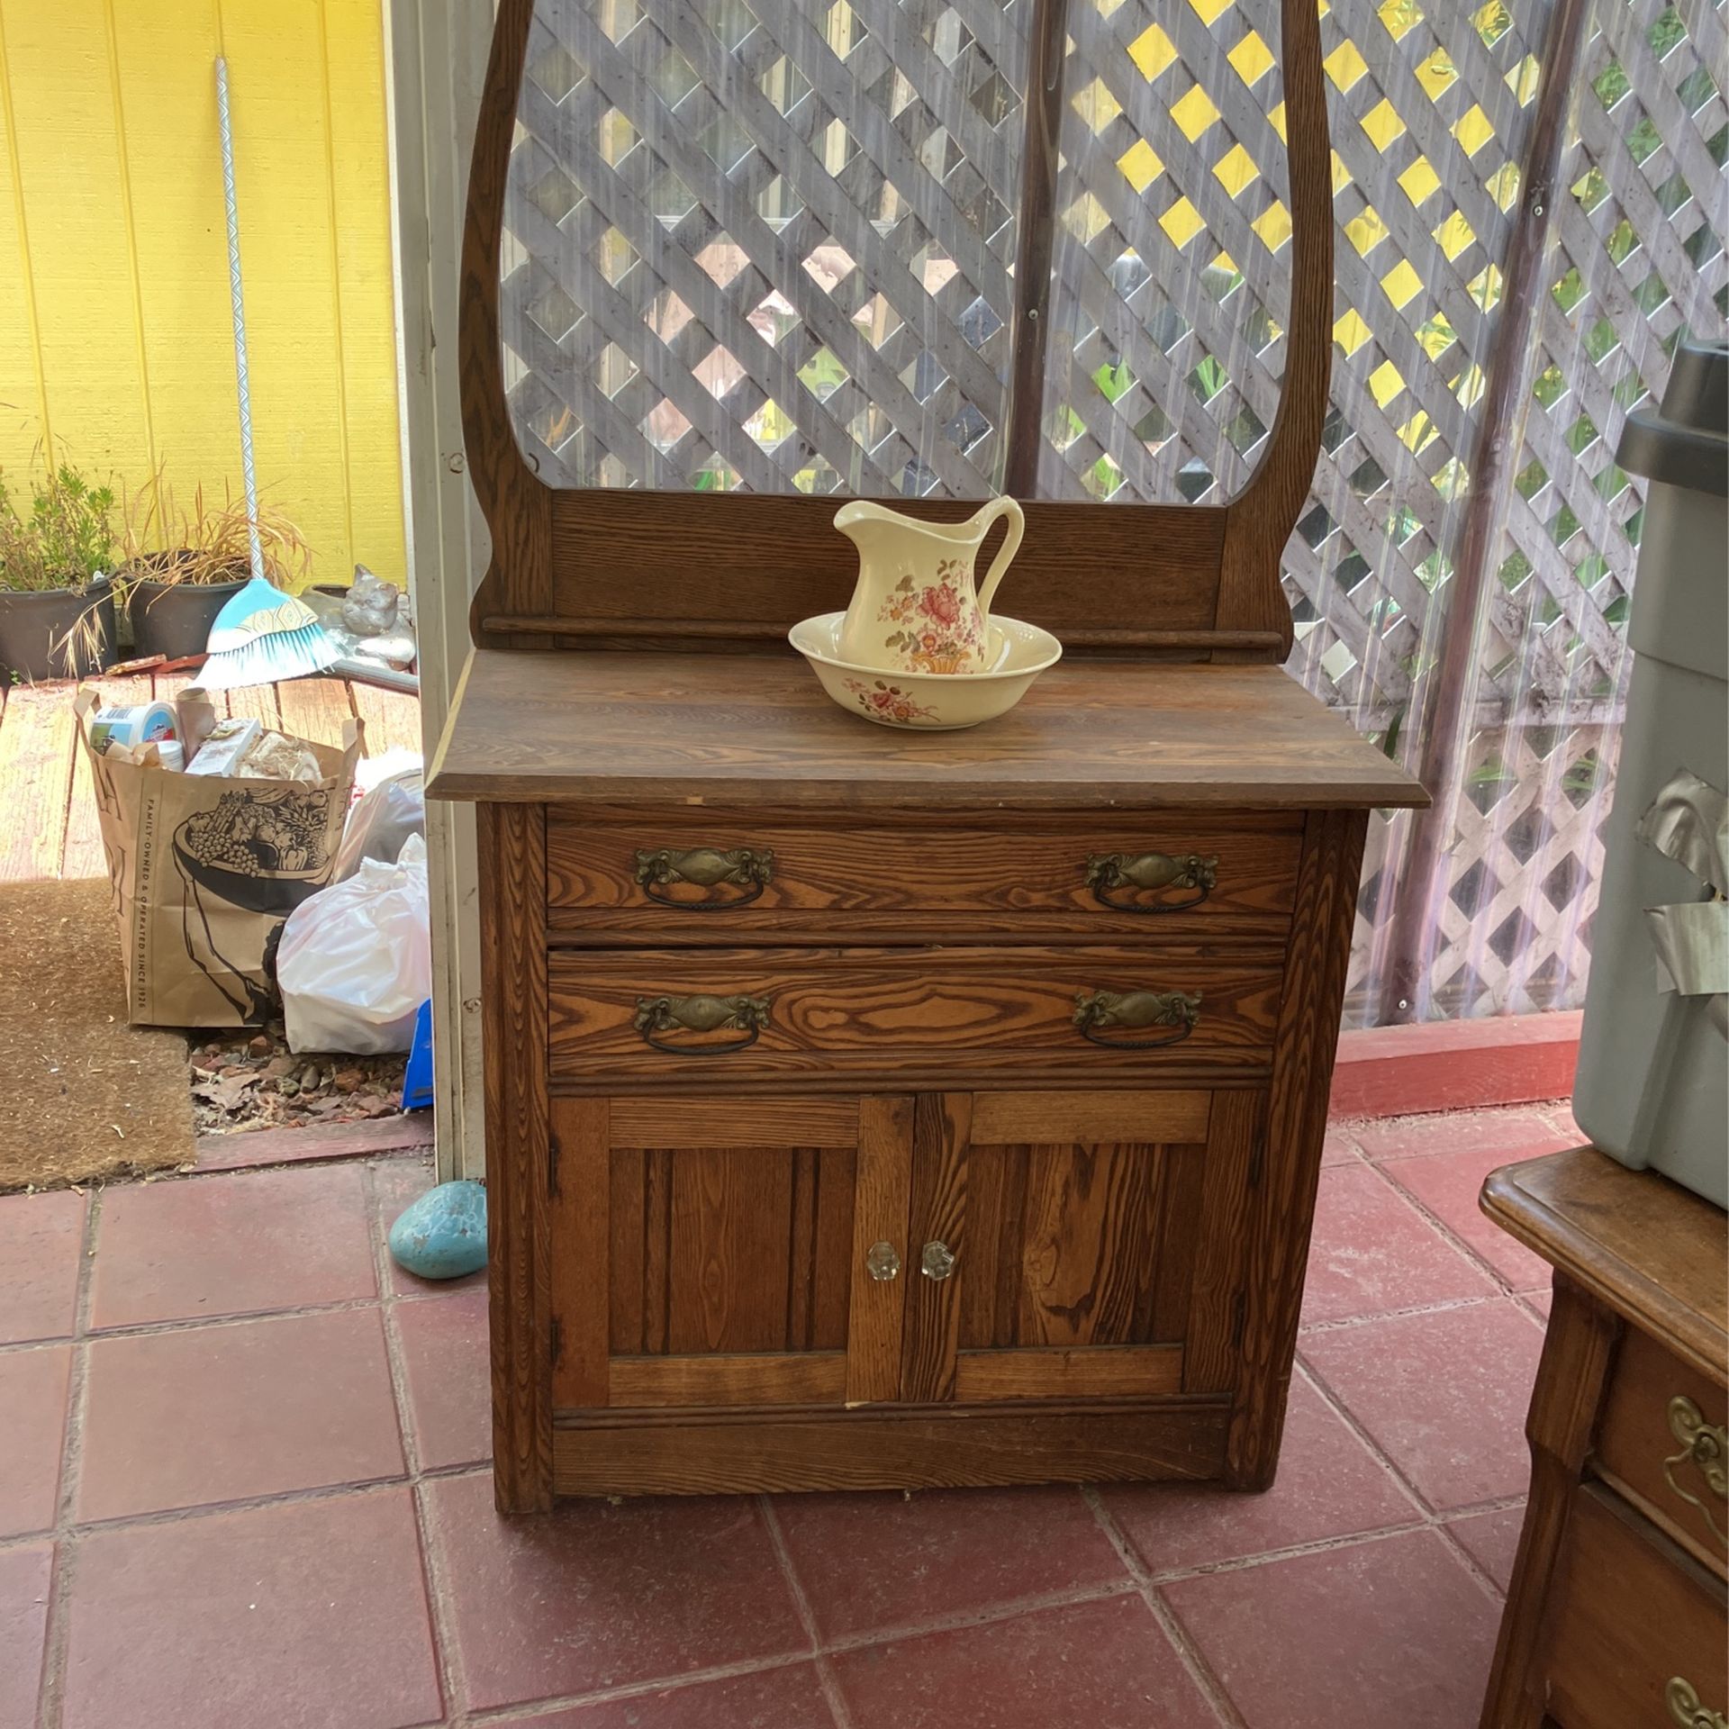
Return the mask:
[[[533,22],[534,0],[500,0],[474,128],[462,235],[456,325],[462,439],[469,479],[493,534],[493,562],[469,609],[469,635],[491,647],[501,643],[481,628],[484,616],[552,610],[552,488],[529,469],[510,431],[498,339],[498,259],[510,183],[510,140]]]

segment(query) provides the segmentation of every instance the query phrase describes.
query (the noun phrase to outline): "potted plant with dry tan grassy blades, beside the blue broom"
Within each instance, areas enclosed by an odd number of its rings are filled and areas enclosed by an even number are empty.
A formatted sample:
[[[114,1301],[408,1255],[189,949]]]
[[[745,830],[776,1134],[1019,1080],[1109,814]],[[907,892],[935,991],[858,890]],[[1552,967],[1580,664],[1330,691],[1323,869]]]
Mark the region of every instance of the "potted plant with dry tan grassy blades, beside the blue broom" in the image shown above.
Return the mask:
[[[246,503],[226,494],[221,508],[206,505],[202,486],[182,510],[161,469],[128,496],[119,590],[138,659],[204,654],[216,614],[251,576],[254,526],[265,576],[278,588],[303,577],[311,555],[280,510],[261,507],[254,522]]]

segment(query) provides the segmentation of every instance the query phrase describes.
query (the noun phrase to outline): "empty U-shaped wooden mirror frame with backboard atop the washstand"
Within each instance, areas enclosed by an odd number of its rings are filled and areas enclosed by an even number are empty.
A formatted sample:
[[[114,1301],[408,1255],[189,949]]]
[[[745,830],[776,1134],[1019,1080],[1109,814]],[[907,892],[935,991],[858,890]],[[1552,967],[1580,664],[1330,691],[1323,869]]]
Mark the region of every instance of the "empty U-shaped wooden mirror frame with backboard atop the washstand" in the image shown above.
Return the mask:
[[[500,0],[469,173],[462,427],[493,536],[470,635],[488,647],[534,647],[555,640],[550,626],[567,619],[558,635],[572,638],[681,640],[724,628],[778,640],[801,609],[845,603],[856,567],[832,531],[833,500],[555,489],[517,446],[500,346],[500,244],[533,21],[534,0]],[[1316,0],[1281,0],[1281,59],[1292,296],[1266,455],[1226,507],[1029,501],[1027,546],[1011,572],[1015,610],[1075,643],[1160,652],[1152,638],[1176,633],[1183,652],[1215,659],[1279,660],[1290,652],[1279,558],[1314,477],[1333,349],[1331,152]],[[906,508],[947,517],[965,505]],[[621,569],[631,571],[622,593],[614,581]],[[514,619],[526,621],[520,635],[510,631]]]

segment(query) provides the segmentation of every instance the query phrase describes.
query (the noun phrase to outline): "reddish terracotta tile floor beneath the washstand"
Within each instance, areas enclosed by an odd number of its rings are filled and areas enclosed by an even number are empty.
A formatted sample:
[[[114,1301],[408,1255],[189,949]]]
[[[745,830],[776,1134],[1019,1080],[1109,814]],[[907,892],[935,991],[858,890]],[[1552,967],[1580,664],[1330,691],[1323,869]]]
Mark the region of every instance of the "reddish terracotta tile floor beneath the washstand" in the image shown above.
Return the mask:
[[[486,1290],[413,1158],[0,1198],[0,1729],[1470,1729],[1565,1107],[1333,1124],[1285,1459],[1153,1485],[505,1523]]]

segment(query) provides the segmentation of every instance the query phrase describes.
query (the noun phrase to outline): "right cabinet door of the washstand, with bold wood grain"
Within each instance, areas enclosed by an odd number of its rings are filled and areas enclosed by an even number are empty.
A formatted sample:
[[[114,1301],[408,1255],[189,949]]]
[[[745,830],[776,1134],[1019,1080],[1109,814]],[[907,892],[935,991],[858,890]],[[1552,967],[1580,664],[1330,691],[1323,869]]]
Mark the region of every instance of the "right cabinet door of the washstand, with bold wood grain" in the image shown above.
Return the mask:
[[[1224,1390],[1217,1243],[1257,1112],[1207,1091],[920,1096],[903,1397]]]

